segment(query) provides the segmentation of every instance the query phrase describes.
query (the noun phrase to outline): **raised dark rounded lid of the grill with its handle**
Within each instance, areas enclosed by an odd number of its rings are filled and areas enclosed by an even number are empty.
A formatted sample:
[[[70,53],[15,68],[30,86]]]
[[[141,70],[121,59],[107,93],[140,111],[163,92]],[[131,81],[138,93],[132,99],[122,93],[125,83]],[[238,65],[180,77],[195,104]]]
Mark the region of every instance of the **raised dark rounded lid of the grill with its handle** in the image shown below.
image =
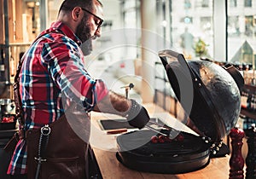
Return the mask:
[[[239,117],[241,73],[234,66],[186,61],[182,54],[168,49],[159,56],[183,111],[212,141],[221,141]]]

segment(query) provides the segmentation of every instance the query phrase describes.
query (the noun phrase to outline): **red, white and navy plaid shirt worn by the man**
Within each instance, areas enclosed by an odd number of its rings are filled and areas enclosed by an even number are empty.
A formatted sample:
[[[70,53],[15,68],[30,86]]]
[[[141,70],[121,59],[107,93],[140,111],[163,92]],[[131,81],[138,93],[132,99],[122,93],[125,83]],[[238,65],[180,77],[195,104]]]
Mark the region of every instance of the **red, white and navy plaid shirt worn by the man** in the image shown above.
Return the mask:
[[[40,36],[23,56],[20,71],[26,130],[54,122],[64,113],[67,101],[81,101],[84,110],[90,112],[108,94],[106,85],[84,69],[81,42],[68,26],[55,22]],[[22,139],[8,174],[26,174],[26,157],[26,141]]]

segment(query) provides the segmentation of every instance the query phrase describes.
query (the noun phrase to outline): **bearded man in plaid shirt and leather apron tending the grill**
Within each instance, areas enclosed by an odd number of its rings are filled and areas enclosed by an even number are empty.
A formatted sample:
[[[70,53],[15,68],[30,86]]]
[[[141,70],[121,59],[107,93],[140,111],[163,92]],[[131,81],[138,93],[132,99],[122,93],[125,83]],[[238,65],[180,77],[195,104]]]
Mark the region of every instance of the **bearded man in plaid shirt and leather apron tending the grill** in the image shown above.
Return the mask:
[[[20,124],[20,130],[24,131],[25,135],[20,136],[9,164],[8,174],[12,178],[35,178],[34,173],[30,174],[32,168],[27,165],[30,159],[28,157],[30,151],[27,149],[29,147],[27,137],[30,135],[28,131],[40,131],[45,125],[62,120],[61,116],[74,101],[79,106],[75,107],[76,110],[84,112],[82,119],[88,130],[84,133],[88,135],[85,136],[86,139],[90,137],[90,118],[87,115],[90,111],[118,114],[127,118],[129,124],[139,129],[148,123],[149,116],[144,107],[136,101],[127,100],[124,96],[108,90],[102,80],[91,78],[84,68],[84,55],[90,54],[92,40],[101,36],[102,16],[102,3],[98,0],[65,0],[61,4],[57,20],[49,29],[41,32],[23,55],[20,72],[17,75],[20,79],[19,92],[24,119],[24,124]],[[82,43],[86,46],[84,54],[80,49]],[[55,131],[51,132],[54,134]],[[73,139],[68,139],[70,136],[65,136],[63,139],[61,137],[63,136],[60,136],[60,140],[67,140],[66,146],[63,147],[66,152],[62,153],[60,149],[58,153],[62,154],[62,160],[55,159],[55,161],[63,161],[67,156],[70,159],[69,153],[72,152],[68,150],[72,148],[69,142]],[[49,134],[49,143],[52,142],[51,140]],[[48,156],[44,156],[45,161],[40,156],[32,157],[32,160],[37,160],[35,165],[45,162],[44,166],[38,165],[37,173],[46,175],[47,172],[41,170],[49,165],[51,165],[49,170],[53,170],[49,176],[37,174],[36,178],[90,178],[86,161],[89,140],[84,141],[85,147],[80,148],[84,152],[84,162],[75,165],[70,163],[65,166],[66,171],[58,170],[55,163],[50,163]],[[56,140],[55,145],[57,144]],[[48,149],[45,148],[47,153]],[[40,153],[40,148],[38,151]],[[72,159],[74,163],[75,158]],[[74,173],[79,174],[74,175]]]

